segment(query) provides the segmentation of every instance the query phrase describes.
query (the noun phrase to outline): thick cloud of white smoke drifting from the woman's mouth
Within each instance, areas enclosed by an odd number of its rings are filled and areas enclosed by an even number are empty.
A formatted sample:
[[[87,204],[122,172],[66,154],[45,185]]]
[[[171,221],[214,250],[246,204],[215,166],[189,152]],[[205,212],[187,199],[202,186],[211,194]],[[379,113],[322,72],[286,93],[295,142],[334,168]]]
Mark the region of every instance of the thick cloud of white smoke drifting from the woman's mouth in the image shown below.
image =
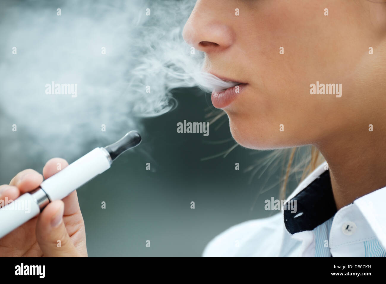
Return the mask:
[[[103,146],[129,130],[141,131],[141,117],[175,107],[170,91],[195,86],[192,74],[202,61],[182,38],[194,3],[2,1],[3,160],[26,152],[42,161],[77,158],[91,150],[85,145]],[[47,95],[52,81],[76,83],[77,97]]]

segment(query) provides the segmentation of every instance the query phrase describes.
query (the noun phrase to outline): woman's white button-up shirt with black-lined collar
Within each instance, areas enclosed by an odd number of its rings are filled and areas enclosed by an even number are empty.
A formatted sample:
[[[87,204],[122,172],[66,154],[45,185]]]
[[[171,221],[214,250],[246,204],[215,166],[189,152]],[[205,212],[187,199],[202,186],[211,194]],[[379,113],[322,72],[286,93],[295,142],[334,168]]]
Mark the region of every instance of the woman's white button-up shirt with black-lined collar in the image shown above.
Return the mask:
[[[291,199],[297,201],[296,214],[281,206],[274,216],[232,226],[208,243],[203,257],[386,256],[386,187],[336,211],[322,164]]]

